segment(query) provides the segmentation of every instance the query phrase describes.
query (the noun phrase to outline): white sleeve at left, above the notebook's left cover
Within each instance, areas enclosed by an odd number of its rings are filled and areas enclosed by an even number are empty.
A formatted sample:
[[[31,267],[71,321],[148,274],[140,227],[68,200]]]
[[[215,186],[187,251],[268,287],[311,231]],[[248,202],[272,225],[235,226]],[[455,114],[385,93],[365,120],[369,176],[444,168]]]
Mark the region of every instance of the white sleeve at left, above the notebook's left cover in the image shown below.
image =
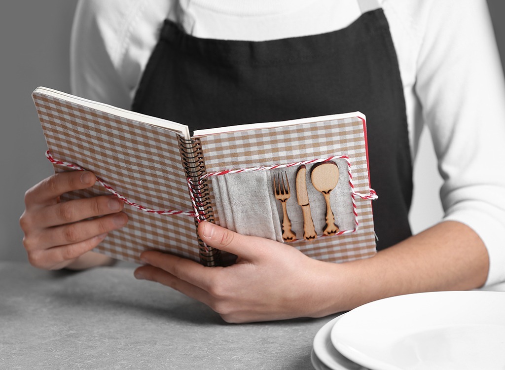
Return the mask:
[[[171,4],[80,0],[71,37],[73,94],[130,109]]]

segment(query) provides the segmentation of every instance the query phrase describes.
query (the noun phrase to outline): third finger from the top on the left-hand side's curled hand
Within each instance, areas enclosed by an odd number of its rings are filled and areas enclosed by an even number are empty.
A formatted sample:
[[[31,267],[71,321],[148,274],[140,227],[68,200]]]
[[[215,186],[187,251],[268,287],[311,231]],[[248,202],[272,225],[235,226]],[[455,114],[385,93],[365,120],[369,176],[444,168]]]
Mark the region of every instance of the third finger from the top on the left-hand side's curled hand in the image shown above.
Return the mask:
[[[111,232],[124,226],[127,222],[128,216],[119,212],[92,220],[45,228],[38,235],[33,249],[47,249],[53,246],[79,243],[91,237]]]

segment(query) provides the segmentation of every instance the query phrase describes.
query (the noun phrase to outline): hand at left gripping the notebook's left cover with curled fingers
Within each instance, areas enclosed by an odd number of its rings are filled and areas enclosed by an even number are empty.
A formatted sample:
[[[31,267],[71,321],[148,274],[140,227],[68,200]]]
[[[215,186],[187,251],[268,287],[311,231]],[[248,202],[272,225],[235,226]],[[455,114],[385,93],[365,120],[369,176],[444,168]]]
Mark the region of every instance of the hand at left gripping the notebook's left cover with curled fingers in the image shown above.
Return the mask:
[[[33,266],[56,270],[78,265],[79,257],[96,247],[108,232],[127,223],[128,217],[121,212],[124,204],[115,196],[60,202],[62,194],[89,188],[95,181],[95,175],[88,171],[61,172],[25,193],[20,225],[25,235],[23,245]],[[90,259],[87,253],[86,263],[104,264],[106,257],[95,255]]]

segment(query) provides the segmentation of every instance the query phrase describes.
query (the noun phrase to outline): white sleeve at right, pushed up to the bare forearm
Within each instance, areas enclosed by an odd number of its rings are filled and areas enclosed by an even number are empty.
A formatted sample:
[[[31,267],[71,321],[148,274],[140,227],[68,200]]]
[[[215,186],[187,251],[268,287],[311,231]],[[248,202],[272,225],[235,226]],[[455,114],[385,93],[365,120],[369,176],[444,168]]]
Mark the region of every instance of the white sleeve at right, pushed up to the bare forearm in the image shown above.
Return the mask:
[[[444,219],[470,226],[489,253],[487,285],[505,281],[505,87],[484,0],[435,0],[416,93],[444,180]]]

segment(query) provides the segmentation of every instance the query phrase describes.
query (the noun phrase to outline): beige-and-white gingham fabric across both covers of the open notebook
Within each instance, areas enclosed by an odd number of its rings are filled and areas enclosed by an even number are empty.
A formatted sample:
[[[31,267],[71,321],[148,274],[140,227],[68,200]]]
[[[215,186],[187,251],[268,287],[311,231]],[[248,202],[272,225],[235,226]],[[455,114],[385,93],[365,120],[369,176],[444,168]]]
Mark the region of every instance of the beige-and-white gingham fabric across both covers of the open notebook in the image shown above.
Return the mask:
[[[179,135],[168,129],[89,109],[36,92],[33,100],[49,151],[102,178],[128,200],[145,208],[192,211],[179,152]],[[347,155],[355,190],[369,189],[365,135],[360,118],[246,130],[204,136],[207,171],[292,163]],[[55,170],[68,167],[55,165]],[[212,194],[212,187],[210,189]],[[108,195],[96,185],[66,194],[63,201]],[[311,257],[347,261],[372,256],[375,237],[371,202],[357,199],[359,229],[352,234],[322,237],[291,245]],[[216,209],[216,207],[213,207]],[[126,206],[127,226],[111,232],[96,250],[114,258],[139,262],[148,249],[200,260],[195,223],[184,215],[146,213]],[[215,215],[219,223],[219,215]]]

